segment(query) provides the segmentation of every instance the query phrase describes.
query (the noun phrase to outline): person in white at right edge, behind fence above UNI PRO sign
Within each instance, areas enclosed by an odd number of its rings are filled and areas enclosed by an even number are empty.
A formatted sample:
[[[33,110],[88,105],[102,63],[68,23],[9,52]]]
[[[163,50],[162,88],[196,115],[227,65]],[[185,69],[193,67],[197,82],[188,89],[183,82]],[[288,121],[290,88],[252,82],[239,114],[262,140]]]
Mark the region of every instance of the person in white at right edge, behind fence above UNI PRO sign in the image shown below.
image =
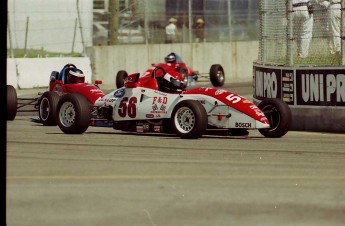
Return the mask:
[[[331,54],[340,52],[340,17],[341,2],[340,0],[318,0],[319,4],[327,8],[327,20],[330,28]]]

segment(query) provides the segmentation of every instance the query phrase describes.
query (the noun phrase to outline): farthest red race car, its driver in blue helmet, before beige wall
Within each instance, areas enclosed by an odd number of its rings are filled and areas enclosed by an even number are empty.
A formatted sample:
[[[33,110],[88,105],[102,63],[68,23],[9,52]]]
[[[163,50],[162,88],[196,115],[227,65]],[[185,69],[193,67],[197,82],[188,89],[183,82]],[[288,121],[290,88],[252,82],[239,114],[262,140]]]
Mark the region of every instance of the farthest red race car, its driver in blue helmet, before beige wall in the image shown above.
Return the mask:
[[[180,73],[178,77],[179,80],[184,81],[184,87],[193,87],[195,82],[198,81],[199,78],[206,78],[211,81],[211,84],[214,87],[221,87],[224,85],[225,82],[225,73],[224,69],[220,64],[213,64],[210,67],[208,73],[200,73],[199,71],[193,70],[192,68],[188,67],[185,62],[183,62],[182,58],[176,53],[170,53],[164,58],[164,63],[152,64],[151,67],[143,73],[142,76],[150,76],[152,71],[156,67],[163,68],[167,73],[171,71],[177,71]],[[116,74],[115,78],[115,85],[117,88],[121,88],[124,86],[124,82],[128,76],[127,71],[120,70]],[[157,72],[157,76],[164,76],[162,71]]]

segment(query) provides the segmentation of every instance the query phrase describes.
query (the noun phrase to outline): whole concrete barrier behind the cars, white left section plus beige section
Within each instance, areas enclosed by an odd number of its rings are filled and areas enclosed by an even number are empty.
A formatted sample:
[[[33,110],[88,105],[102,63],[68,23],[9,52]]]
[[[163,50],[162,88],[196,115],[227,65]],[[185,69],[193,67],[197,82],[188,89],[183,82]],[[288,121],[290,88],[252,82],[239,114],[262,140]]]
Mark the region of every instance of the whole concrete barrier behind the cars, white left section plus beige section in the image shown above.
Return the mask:
[[[208,74],[212,64],[221,64],[226,83],[251,82],[258,42],[94,46],[87,49],[88,57],[8,58],[7,84],[16,88],[46,87],[52,71],[73,63],[84,71],[88,82],[99,79],[105,88],[114,87],[119,70],[142,74],[152,63],[163,62],[170,52],[179,54],[200,73]]]

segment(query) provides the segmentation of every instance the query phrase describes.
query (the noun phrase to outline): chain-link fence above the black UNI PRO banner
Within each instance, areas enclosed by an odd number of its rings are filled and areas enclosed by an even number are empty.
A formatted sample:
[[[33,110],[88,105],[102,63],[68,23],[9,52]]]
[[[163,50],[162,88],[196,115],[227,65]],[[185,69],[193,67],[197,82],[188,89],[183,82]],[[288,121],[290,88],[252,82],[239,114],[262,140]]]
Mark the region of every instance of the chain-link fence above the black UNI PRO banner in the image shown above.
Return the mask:
[[[343,65],[344,0],[260,1],[259,62]]]

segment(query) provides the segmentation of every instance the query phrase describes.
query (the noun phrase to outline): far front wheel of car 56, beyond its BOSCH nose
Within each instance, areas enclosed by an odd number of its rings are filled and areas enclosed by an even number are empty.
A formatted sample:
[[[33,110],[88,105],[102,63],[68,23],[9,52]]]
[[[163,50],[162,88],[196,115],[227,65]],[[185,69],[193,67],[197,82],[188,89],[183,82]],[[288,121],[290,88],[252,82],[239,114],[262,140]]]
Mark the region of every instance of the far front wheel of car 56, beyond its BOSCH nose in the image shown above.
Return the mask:
[[[291,127],[292,114],[287,103],[277,98],[262,100],[258,108],[265,114],[271,128],[259,129],[265,137],[279,138],[284,136]]]

